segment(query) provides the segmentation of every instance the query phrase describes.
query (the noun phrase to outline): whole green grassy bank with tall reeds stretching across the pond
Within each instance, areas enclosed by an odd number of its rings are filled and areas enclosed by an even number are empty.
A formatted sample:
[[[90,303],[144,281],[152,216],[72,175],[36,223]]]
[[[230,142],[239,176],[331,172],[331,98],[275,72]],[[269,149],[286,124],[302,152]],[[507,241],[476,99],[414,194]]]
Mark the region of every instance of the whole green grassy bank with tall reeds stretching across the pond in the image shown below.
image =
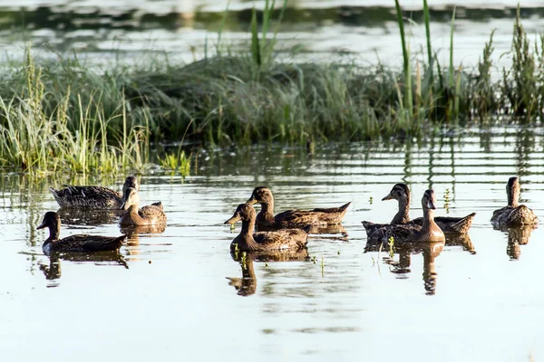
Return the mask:
[[[474,69],[453,64],[454,12],[450,62],[439,62],[426,0],[427,49],[415,53],[395,0],[403,46],[400,70],[381,63],[277,61],[276,34],[286,4],[274,11],[274,2],[267,1],[259,16],[253,12],[248,52],[229,52],[219,36],[214,55],[189,64],[174,64],[165,56],[145,65],[102,69],[77,56],[36,60],[28,49],[24,62],[0,71],[0,167],[108,173],[145,167],[150,142],[420,137],[428,129],[491,122],[497,115],[524,123],[543,116],[544,34],[529,41],[520,10],[511,67],[494,79],[493,33]],[[186,175],[190,157],[179,149],[158,163]]]

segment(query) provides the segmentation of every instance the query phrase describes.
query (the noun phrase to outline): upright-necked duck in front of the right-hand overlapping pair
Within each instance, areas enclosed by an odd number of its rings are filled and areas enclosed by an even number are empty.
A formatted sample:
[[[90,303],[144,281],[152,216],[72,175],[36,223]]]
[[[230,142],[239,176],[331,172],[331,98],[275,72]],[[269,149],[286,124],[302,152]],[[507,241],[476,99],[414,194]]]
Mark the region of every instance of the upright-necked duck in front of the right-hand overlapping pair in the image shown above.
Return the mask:
[[[367,235],[367,240],[372,243],[388,243],[393,237],[394,243],[434,243],[445,242],[446,238],[442,229],[434,222],[434,210],[436,210],[436,196],[429,189],[423,193],[423,224],[385,224],[375,228]],[[363,222],[365,224],[366,222]],[[366,225],[365,225],[366,228]],[[368,228],[367,228],[368,233]]]

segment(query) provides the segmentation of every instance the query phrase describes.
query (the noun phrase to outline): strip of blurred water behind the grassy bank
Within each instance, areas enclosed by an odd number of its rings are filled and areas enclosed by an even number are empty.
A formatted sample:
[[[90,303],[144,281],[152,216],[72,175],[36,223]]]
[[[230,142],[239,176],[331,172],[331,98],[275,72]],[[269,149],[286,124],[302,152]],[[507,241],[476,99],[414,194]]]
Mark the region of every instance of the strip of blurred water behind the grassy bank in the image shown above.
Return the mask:
[[[140,62],[142,54],[161,52],[170,61],[192,62],[204,57],[206,49],[215,52],[227,6],[221,43],[231,50],[248,50],[254,4],[264,6],[263,1],[243,0],[5,0],[0,4],[0,54],[21,59],[30,42],[47,56],[75,51],[91,62]],[[510,51],[516,4],[430,0],[432,47],[442,64],[449,63],[456,5],[455,64],[469,69],[477,64],[495,30],[493,59],[508,65],[510,55],[504,53]],[[413,19],[407,27],[411,49],[419,52],[425,44],[423,1],[406,0],[401,5],[405,17]],[[520,6],[523,25],[531,41],[537,41],[544,7],[537,0],[520,1]],[[393,0],[290,0],[277,40],[277,56],[294,62],[402,64]]]

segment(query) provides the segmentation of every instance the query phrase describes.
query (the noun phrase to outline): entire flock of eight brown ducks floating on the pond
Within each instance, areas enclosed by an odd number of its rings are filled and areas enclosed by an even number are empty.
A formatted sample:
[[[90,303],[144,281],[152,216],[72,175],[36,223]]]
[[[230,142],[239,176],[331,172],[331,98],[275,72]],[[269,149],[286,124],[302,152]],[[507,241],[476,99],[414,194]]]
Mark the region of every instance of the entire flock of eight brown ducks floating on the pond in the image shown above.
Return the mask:
[[[162,204],[139,207],[140,185],[135,176],[128,176],[122,194],[102,186],[64,186],[61,190],[50,188],[62,208],[119,210],[121,226],[165,225],[167,222]],[[495,210],[491,223],[516,227],[537,224],[539,219],[526,205],[519,205],[520,181],[510,177],[506,186],[508,205]],[[397,200],[399,210],[390,224],[364,221],[367,240],[371,243],[435,243],[444,242],[446,234],[463,235],[471,227],[475,213],[463,217],[434,217],[436,196],[431,189],[422,197],[423,217],[410,220],[410,189],[396,184],[382,200]],[[260,204],[257,214],[253,205]],[[274,214],[274,196],[267,187],[257,187],[244,204],[225,224],[242,223],[238,236],[230,244],[232,251],[277,252],[300,251],[306,248],[309,233],[330,231],[339,226],[350,203],[339,207],[313,210],[287,210]],[[98,235],[71,235],[60,238],[61,221],[58,214],[48,212],[38,229],[49,228],[49,237],[43,243],[44,252],[99,252],[121,247],[126,235],[119,237]],[[333,229],[333,230],[338,230]]]

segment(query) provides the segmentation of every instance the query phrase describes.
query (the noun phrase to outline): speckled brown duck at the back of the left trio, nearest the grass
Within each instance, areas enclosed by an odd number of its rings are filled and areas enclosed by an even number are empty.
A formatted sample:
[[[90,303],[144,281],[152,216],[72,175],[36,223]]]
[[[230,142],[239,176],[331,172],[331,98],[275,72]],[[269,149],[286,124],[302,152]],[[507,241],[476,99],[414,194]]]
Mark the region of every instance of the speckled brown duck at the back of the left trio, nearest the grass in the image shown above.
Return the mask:
[[[124,202],[121,194],[108,187],[63,186],[64,188],[59,190],[49,187],[49,191],[61,207],[118,210]],[[122,192],[124,193],[128,187],[140,189],[136,176],[128,176],[125,179]]]

